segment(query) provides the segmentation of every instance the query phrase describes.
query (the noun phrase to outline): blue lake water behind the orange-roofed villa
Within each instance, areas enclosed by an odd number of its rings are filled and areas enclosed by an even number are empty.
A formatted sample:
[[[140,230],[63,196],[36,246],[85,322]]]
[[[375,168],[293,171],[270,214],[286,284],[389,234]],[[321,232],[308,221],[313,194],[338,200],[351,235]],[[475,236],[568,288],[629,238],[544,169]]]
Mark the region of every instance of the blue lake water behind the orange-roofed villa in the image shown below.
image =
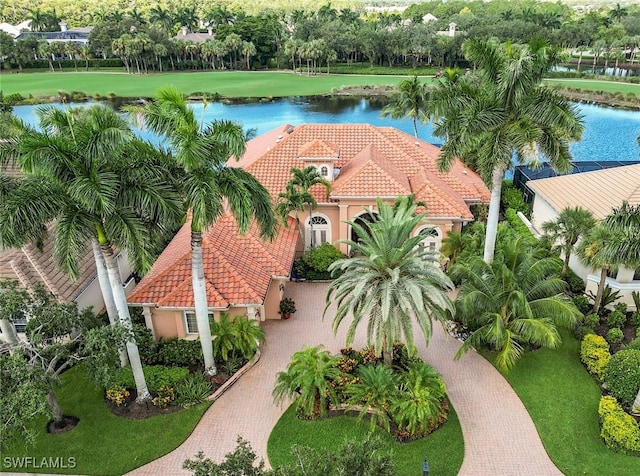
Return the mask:
[[[63,104],[58,104],[65,107]],[[303,123],[369,123],[391,126],[413,134],[410,120],[394,120],[380,117],[385,102],[381,99],[353,97],[286,98],[270,102],[250,104],[209,103],[204,110],[204,120],[229,119],[242,124],[245,130],[255,128],[258,135],[282,124],[294,126]],[[197,117],[202,117],[202,103],[193,103]],[[594,105],[579,104],[578,109],[585,123],[582,140],[571,145],[574,160],[640,160],[640,112],[623,111]],[[35,124],[36,106],[17,106],[14,113]],[[442,140],[433,136],[431,124],[419,126],[420,138],[440,145]],[[142,136],[152,139],[148,133]]]

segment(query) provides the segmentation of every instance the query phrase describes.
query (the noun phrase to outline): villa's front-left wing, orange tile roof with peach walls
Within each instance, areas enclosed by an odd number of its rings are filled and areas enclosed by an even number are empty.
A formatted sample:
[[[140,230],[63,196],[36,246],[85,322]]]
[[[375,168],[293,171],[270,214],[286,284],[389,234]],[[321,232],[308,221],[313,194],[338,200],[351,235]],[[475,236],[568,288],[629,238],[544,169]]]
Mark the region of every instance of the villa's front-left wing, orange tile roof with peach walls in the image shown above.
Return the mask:
[[[207,230],[202,260],[209,309],[247,315],[264,321],[278,319],[279,303],[293,264],[298,240],[293,219],[281,226],[272,240],[263,240],[255,224],[245,235],[226,212]],[[128,297],[131,306],[142,307],[154,337],[197,338],[191,282],[191,221],[178,231],[151,271]]]

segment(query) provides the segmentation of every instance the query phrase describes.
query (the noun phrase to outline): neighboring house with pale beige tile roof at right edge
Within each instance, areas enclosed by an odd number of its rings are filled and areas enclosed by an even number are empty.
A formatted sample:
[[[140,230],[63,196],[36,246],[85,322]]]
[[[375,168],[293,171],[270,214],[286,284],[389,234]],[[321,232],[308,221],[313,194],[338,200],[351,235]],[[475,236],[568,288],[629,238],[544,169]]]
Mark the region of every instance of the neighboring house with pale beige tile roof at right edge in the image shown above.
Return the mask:
[[[529,180],[526,187],[534,194],[531,222],[538,231],[544,222],[554,220],[566,207],[581,206],[601,220],[623,201],[640,204],[640,164]],[[585,280],[587,291],[595,293],[599,270],[587,269],[574,255],[569,266]],[[621,267],[615,277],[607,278],[607,285],[614,291],[619,290],[622,301],[635,309],[631,293],[640,291],[640,268]]]

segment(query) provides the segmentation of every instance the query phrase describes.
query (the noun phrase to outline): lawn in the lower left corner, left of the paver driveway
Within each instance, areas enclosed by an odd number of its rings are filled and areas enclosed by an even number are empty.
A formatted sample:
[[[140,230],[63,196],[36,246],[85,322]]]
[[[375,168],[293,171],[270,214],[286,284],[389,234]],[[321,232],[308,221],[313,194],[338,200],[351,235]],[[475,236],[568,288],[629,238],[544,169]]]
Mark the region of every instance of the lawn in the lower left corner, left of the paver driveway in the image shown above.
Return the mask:
[[[46,421],[38,422],[42,429],[36,443],[25,448],[19,445],[2,455],[2,469],[10,457],[74,458],[74,468],[58,469],[34,467],[29,472],[71,473],[92,475],[124,474],[152,461],[182,443],[200,421],[210,403],[188,410],[147,418],[129,420],[112,414],[102,397],[102,391],[93,385],[81,367],[62,376],[63,385],[56,391],[65,414],[80,418],[78,426],[62,435],[47,434]]]

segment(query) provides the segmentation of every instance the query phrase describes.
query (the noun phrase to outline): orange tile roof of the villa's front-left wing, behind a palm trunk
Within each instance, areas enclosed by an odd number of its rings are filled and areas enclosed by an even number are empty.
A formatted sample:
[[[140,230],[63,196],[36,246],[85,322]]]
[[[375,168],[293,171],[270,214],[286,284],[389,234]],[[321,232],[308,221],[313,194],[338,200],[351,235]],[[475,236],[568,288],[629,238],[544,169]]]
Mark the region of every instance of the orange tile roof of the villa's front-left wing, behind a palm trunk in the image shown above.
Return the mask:
[[[240,235],[235,219],[226,212],[204,235],[202,259],[209,307],[262,304],[272,276],[288,276],[295,254],[294,220],[281,227],[273,241],[259,237],[255,223]],[[191,222],[162,252],[128,301],[158,307],[192,308]]]

